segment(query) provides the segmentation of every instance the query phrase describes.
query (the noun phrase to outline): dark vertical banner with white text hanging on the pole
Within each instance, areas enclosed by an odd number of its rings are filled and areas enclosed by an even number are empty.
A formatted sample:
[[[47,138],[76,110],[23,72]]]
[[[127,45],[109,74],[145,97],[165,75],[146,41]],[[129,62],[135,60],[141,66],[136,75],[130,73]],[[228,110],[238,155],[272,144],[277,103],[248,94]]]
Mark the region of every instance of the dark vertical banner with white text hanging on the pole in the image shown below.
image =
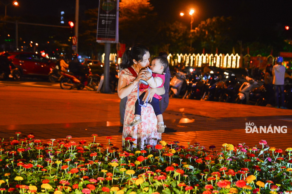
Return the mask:
[[[96,41],[119,42],[119,0],[99,1]]]

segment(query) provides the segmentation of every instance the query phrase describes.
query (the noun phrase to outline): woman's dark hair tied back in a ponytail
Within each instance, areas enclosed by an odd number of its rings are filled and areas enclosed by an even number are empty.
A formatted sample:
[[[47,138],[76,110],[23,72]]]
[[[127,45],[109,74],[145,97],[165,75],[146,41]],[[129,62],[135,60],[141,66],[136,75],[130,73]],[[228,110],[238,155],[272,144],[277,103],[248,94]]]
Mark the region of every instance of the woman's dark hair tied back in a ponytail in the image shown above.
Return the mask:
[[[121,68],[128,68],[134,64],[133,59],[137,62],[143,60],[143,56],[149,52],[149,48],[142,44],[135,44],[132,47],[128,47],[122,56]]]

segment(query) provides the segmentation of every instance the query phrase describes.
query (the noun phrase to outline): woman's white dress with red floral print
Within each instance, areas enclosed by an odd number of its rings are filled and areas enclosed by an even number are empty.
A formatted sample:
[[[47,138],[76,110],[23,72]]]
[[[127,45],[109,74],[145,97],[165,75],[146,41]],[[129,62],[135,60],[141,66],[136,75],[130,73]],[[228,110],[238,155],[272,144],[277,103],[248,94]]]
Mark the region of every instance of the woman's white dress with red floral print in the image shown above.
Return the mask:
[[[136,78],[127,68],[119,72],[119,76],[122,76],[125,80],[127,80],[127,85],[131,84],[131,82]],[[137,144],[137,147],[145,149],[146,145],[155,146],[159,141],[161,141],[161,133],[157,132],[157,117],[154,113],[153,107],[150,104],[147,104],[147,107],[141,107],[140,118],[142,122],[136,126],[130,126],[134,119],[137,90],[138,86],[136,86],[133,91],[127,96],[128,101],[126,103],[125,109],[122,138],[134,138],[134,143]],[[142,91],[139,92],[139,96],[141,94]]]

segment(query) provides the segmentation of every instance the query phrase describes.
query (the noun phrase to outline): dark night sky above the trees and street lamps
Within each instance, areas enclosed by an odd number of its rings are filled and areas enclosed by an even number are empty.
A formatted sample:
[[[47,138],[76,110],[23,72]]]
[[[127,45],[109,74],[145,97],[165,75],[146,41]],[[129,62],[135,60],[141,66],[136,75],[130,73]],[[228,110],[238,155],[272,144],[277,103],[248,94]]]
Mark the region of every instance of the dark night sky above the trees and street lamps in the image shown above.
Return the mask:
[[[2,0],[5,1],[5,0]],[[8,1],[8,0],[7,0]],[[7,6],[7,15],[35,15],[37,18],[56,16],[60,10],[67,10],[74,17],[74,0],[18,0],[20,7]],[[272,2],[272,3],[271,3]],[[80,18],[84,10],[98,7],[98,0],[80,0]],[[268,30],[277,24],[289,25],[292,28],[292,0],[258,1],[258,0],[150,0],[150,3],[158,12],[159,20],[173,22],[175,20],[190,25],[190,17],[179,16],[181,11],[187,12],[195,8],[195,28],[201,21],[214,16],[241,17],[246,21],[244,25],[252,33],[255,29]],[[4,6],[0,7],[4,15]],[[35,23],[31,17],[31,23]],[[49,21],[46,21],[48,24]]]

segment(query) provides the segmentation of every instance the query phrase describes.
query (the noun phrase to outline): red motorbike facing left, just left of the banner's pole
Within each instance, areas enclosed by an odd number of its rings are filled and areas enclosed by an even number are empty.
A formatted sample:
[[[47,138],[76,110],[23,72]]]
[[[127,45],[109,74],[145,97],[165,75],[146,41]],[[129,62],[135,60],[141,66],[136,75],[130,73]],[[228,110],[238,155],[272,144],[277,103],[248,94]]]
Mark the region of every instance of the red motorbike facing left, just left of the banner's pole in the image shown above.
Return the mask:
[[[85,70],[87,71],[87,74],[85,76],[84,83],[80,82],[80,76],[63,73],[64,78],[60,81],[60,87],[63,90],[71,90],[72,88],[82,90],[84,87],[86,87],[88,90],[97,91],[97,86],[100,82],[100,76],[97,74],[92,74],[89,67],[86,67]]]

